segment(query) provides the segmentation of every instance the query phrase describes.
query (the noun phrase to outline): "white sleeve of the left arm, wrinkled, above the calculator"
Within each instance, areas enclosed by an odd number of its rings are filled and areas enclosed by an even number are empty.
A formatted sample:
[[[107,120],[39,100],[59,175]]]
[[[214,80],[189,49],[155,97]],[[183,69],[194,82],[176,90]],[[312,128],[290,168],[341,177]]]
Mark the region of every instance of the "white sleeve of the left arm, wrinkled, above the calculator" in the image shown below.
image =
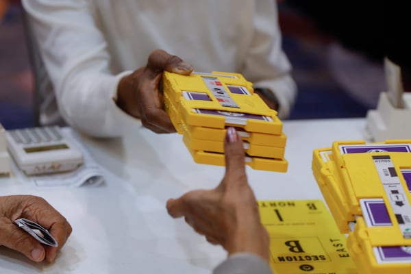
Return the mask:
[[[140,125],[117,107],[118,83],[108,45],[86,0],[23,0],[60,113],[69,125],[101,137],[121,136]]]

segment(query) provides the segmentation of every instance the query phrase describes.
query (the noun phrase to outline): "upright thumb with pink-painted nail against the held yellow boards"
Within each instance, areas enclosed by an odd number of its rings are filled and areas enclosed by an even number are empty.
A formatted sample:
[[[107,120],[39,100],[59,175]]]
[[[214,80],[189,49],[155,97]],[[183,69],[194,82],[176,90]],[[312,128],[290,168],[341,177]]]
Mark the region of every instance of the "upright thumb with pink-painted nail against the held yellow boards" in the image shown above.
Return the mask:
[[[225,173],[245,174],[245,151],[234,127],[228,127],[224,140]]]

